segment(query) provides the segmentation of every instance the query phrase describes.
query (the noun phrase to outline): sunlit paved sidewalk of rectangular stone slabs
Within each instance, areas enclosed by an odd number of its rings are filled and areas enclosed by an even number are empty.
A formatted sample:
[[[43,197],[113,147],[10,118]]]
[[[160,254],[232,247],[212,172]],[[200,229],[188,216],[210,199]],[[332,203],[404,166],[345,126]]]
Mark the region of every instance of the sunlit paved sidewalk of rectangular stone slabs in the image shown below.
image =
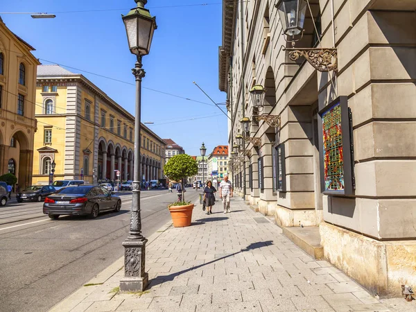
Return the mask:
[[[327,261],[315,261],[281,229],[234,198],[190,227],[166,225],[146,248],[150,286],[119,293],[123,259],[51,311],[350,312],[416,311],[404,299],[380,302]]]

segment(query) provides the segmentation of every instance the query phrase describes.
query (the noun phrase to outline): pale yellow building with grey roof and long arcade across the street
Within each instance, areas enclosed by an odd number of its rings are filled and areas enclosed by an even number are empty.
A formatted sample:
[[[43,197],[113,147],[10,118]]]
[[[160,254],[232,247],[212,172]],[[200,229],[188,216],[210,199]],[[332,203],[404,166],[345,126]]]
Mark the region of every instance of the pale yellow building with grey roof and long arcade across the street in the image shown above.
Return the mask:
[[[54,180],[132,180],[135,117],[78,73],[37,67],[33,184]],[[141,125],[141,174],[163,176],[164,141]]]

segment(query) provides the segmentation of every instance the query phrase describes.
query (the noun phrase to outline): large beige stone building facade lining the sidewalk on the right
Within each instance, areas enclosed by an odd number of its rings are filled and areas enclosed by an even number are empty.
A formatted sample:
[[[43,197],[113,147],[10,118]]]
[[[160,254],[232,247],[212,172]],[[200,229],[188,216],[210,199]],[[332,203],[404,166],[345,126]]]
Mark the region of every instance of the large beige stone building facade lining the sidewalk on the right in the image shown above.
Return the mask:
[[[277,2],[223,1],[229,145],[236,135],[259,138],[245,140],[241,161],[233,157],[233,179],[243,176],[236,191],[281,227],[316,227],[325,259],[372,293],[399,296],[401,284],[416,285],[416,2],[307,1],[295,47],[336,49],[338,72],[289,58]],[[266,89],[262,110],[253,109],[254,85]],[[348,193],[322,189],[323,116],[339,96],[354,152],[345,150]],[[257,121],[262,114],[279,126]]]

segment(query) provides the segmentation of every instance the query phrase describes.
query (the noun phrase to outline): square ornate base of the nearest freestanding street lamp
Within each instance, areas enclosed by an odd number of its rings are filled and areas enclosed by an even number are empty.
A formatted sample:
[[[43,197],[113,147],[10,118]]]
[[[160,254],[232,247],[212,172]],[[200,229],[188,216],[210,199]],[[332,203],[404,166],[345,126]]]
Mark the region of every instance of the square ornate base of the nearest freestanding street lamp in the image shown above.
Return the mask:
[[[147,239],[126,239],[124,246],[124,277],[120,280],[120,291],[144,291],[148,286],[145,271]]]

